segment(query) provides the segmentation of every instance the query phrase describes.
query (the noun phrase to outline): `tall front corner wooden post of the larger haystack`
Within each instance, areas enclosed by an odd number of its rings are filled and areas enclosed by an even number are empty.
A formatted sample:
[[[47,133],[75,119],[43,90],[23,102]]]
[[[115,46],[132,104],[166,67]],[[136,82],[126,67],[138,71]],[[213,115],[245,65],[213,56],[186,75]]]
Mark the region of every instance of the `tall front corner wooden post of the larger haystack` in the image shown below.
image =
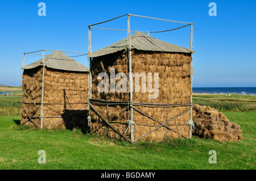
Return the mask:
[[[132,70],[131,70],[131,30],[130,30],[130,15],[128,14],[128,58],[129,58],[129,92],[130,92],[130,104],[131,106],[133,105],[133,75],[132,75]],[[133,108],[130,107],[130,112],[131,112],[131,117],[130,121],[133,121]],[[134,125],[131,124],[130,128],[130,136],[131,136],[131,141],[134,141]]]

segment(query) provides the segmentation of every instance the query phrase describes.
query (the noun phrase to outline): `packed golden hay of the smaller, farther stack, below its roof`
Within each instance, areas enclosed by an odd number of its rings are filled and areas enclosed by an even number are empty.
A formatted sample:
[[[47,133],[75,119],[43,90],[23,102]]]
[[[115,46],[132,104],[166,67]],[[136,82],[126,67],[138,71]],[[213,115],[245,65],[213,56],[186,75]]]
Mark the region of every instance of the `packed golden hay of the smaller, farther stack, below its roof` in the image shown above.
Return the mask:
[[[23,104],[20,112],[21,124],[34,125],[30,123],[28,114],[30,117],[37,117],[32,118],[32,121],[39,128],[42,70],[42,67],[24,70],[22,81]],[[43,102],[43,113],[46,116],[43,119],[43,128],[80,110],[88,102],[88,73],[46,68],[44,70]],[[87,125],[86,114],[87,106],[49,128],[65,129],[85,126]]]

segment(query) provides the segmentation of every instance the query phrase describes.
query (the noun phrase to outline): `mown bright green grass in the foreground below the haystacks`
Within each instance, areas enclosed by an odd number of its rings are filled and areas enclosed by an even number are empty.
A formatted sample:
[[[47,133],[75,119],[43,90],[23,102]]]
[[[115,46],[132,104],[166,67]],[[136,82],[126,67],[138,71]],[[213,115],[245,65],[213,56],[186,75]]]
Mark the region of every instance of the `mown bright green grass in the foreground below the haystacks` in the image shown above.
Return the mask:
[[[79,129],[22,127],[19,116],[0,117],[0,169],[256,169],[256,112],[224,112],[240,124],[240,142],[221,143],[193,137],[129,144],[82,134]],[[46,164],[39,164],[39,150]],[[209,150],[217,151],[210,164]]]

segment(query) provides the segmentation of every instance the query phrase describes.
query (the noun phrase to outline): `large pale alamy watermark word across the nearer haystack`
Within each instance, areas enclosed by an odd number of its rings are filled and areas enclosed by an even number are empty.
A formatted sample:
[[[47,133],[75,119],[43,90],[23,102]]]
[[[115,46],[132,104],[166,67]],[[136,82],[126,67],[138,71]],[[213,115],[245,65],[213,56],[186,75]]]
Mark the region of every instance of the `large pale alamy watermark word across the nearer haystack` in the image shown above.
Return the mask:
[[[140,92],[140,80],[142,82],[141,92],[148,92],[148,99],[157,99],[159,94],[159,73],[154,73],[154,85],[152,81],[152,73],[129,73],[129,76],[134,79],[135,85],[133,86],[133,81],[131,81],[131,87],[128,87],[127,91],[127,75],[125,73],[117,73],[115,75],[115,69],[110,69],[110,78],[107,73],[99,73],[97,79],[101,80],[98,83],[98,92]],[[110,79],[110,80],[109,80]],[[119,80],[116,84],[115,81]],[[134,89],[133,89],[134,88]],[[130,91],[131,90],[131,91]]]

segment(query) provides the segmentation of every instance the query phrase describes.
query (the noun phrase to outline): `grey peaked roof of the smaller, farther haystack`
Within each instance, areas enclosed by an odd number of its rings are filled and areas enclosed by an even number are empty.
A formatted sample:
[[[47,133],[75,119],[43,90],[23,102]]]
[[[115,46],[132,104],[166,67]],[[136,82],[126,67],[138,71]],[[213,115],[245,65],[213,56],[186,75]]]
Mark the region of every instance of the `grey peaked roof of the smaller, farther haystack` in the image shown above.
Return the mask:
[[[55,52],[44,57],[44,64],[46,67],[58,70],[68,70],[68,71],[89,71],[86,66],[80,64],[79,62],[68,57],[64,53],[56,50]],[[23,69],[34,69],[38,66],[43,66],[43,58],[30,64],[24,66]]]

